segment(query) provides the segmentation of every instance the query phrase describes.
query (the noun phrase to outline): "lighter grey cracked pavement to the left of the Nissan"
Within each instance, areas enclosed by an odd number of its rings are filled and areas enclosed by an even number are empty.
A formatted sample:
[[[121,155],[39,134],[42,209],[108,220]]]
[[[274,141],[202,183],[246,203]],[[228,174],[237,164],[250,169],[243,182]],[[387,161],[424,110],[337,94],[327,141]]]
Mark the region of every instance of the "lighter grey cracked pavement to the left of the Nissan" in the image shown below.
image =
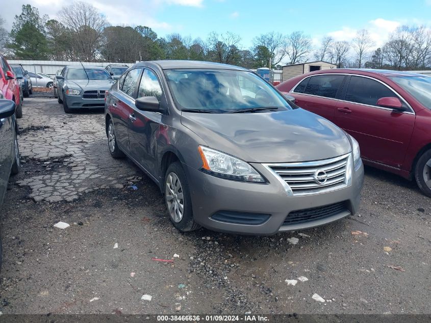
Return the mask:
[[[122,188],[125,179],[137,174],[131,163],[106,154],[105,120],[100,112],[86,112],[83,120],[82,114],[62,113],[53,101],[32,99],[26,117],[19,120],[19,150],[24,161],[44,165],[61,161],[55,172],[17,183],[31,188],[29,196],[35,202],[71,202],[96,189]]]

